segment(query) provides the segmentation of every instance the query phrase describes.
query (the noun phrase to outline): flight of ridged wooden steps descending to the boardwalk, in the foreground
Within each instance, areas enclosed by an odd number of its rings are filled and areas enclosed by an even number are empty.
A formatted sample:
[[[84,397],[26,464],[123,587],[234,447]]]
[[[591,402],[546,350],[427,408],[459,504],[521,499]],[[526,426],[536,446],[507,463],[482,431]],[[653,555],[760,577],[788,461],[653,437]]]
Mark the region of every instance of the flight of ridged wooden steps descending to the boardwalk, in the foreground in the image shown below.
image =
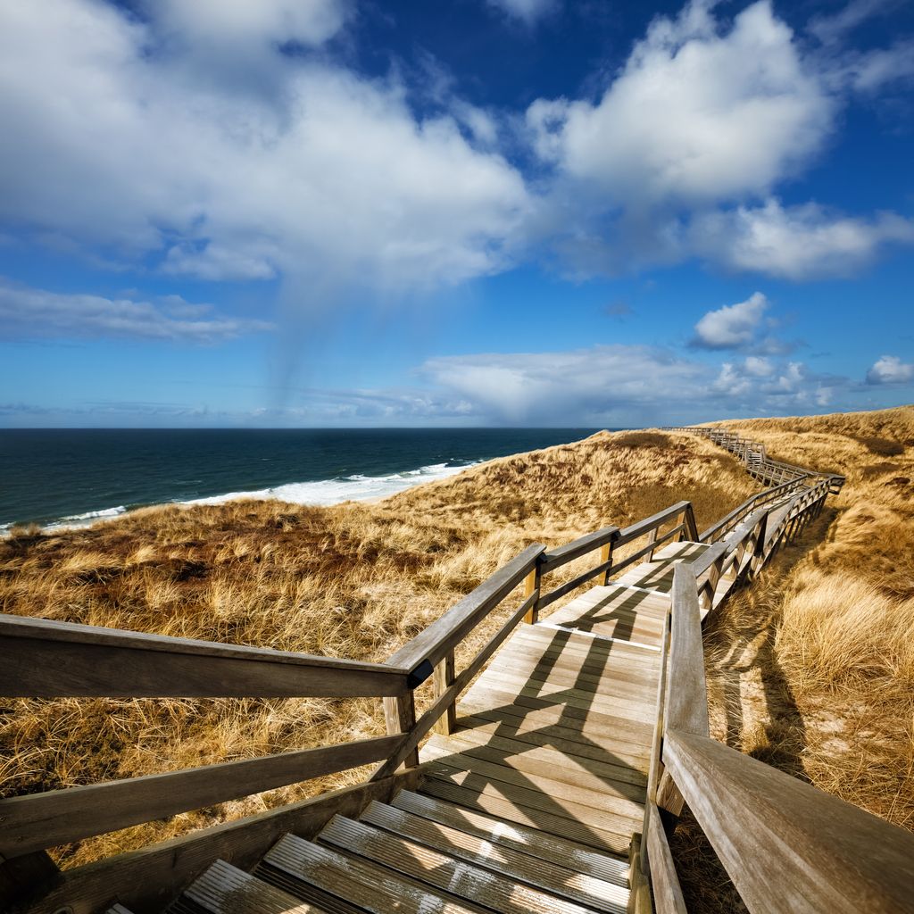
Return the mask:
[[[250,875],[217,861],[170,911],[621,914],[627,875],[590,845],[404,790],[314,841],[284,835]]]

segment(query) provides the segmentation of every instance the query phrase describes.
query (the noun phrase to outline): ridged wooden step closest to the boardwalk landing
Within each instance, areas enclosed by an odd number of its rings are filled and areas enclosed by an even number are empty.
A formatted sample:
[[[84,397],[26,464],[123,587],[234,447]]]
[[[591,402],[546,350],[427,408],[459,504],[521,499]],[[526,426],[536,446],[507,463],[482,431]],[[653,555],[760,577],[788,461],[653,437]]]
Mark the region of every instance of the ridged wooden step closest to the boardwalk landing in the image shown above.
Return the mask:
[[[550,861],[575,873],[604,879],[619,886],[627,885],[627,859],[601,854],[588,845],[570,841],[551,831],[480,813],[414,791],[400,791],[391,805],[430,822],[484,838],[494,845],[521,851],[538,861]]]

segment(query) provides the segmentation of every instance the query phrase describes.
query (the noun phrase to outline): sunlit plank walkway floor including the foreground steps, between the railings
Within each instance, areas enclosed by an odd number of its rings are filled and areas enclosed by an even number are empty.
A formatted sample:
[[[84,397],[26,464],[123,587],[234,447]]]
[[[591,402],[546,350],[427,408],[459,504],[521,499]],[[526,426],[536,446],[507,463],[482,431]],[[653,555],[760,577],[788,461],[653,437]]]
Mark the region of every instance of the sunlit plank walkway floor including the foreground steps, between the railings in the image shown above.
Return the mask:
[[[175,912],[602,911],[629,900],[677,542],[536,624],[520,623],[420,754],[421,779],[249,876],[224,862]]]

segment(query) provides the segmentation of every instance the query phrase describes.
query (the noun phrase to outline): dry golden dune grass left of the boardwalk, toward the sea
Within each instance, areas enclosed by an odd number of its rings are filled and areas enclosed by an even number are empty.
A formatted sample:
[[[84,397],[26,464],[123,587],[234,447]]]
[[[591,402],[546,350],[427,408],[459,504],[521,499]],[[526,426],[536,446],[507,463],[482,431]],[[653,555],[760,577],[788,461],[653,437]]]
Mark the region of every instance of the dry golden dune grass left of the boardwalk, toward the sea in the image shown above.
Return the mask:
[[[600,433],[496,460],[374,505],[154,508],[0,543],[4,612],[383,660],[530,543],[558,546],[680,499],[699,526],[754,491],[687,435]],[[562,569],[576,573],[572,563]],[[560,578],[559,578],[560,579]],[[506,610],[505,610],[506,612]],[[505,612],[489,622],[491,630]],[[462,646],[458,667],[484,641]],[[6,795],[341,742],[383,732],[380,701],[7,701]],[[59,848],[74,866],[362,780],[312,781]]]

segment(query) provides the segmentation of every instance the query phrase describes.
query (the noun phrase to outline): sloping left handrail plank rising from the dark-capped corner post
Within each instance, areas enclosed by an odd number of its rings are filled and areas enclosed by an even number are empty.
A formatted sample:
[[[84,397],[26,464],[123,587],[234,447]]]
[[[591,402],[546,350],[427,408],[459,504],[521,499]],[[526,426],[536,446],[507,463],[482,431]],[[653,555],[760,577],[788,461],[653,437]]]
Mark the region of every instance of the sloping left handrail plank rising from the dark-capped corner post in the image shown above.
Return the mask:
[[[513,558],[504,568],[483,581],[472,593],[452,606],[440,619],[432,622],[412,641],[393,654],[388,664],[402,669],[416,669],[423,662],[432,666],[452,651],[515,587],[534,569],[537,558],[546,547],[534,545]]]

